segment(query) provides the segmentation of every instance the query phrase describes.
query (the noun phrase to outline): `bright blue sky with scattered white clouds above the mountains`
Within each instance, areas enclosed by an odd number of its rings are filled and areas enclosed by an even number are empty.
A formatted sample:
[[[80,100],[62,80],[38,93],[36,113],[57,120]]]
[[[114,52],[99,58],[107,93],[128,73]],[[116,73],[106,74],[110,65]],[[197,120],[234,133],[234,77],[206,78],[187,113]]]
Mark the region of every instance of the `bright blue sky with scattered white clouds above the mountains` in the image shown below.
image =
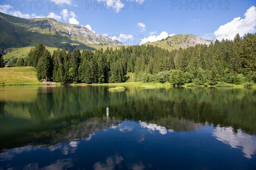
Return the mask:
[[[0,5],[1,12],[7,14],[54,17],[129,45],[173,34],[211,40],[256,32],[255,0],[1,0]]]

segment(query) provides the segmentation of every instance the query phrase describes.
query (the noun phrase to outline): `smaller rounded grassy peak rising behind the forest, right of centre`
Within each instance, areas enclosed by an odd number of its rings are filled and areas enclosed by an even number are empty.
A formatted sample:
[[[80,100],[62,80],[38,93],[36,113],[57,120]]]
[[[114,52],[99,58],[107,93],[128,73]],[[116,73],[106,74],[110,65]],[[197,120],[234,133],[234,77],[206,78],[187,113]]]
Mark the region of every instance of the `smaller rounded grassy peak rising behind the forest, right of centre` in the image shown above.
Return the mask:
[[[192,35],[192,34],[178,34],[166,37],[165,39],[158,40],[155,42],[147,42],[146,45],[153,45],[158,46],[163,49],[179,49],[183,48],[186,49],[191,46],[195,46],[197,44],[206,44],[207,46],[210,45],[212,41],[209,40],[203,40],[198,36]]]

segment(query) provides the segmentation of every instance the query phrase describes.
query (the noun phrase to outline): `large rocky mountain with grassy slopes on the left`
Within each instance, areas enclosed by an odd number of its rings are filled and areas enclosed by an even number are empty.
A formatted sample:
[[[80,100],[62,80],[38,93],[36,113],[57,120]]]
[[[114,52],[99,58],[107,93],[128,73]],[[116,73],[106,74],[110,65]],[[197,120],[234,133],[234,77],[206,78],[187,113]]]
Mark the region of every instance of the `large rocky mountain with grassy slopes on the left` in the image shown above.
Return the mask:
[[[24,19],[0,12],[0,49],[35,46],[93,50],[91,45],[122,45],[118,40],[96,34],[84,26],[53,18]]]

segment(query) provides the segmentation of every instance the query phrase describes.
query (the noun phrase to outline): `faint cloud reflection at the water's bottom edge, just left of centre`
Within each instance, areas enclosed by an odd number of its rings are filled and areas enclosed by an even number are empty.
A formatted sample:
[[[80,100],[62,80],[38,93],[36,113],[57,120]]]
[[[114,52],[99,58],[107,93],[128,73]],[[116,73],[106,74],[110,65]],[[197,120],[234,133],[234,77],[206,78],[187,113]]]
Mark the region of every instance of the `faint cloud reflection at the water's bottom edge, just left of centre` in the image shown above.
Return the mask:
[[[106,159],[106,163],[96,162],[93,166],[94,170],[113,170],[117,164],[123,161],[123,157],[116,153],[115,156],[110,156]]]

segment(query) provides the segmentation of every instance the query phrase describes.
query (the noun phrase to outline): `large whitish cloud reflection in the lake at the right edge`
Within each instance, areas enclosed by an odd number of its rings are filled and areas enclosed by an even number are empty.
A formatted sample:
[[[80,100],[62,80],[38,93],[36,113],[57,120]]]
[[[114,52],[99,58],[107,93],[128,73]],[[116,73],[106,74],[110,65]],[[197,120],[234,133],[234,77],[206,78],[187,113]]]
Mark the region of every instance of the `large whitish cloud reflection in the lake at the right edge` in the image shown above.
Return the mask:
[[[231,127],[216,127],[212,133],[219,141],[233,148],[241,148],[246,158],[252,158],[256,153],[256,138],[238,130],[234,133]]]

